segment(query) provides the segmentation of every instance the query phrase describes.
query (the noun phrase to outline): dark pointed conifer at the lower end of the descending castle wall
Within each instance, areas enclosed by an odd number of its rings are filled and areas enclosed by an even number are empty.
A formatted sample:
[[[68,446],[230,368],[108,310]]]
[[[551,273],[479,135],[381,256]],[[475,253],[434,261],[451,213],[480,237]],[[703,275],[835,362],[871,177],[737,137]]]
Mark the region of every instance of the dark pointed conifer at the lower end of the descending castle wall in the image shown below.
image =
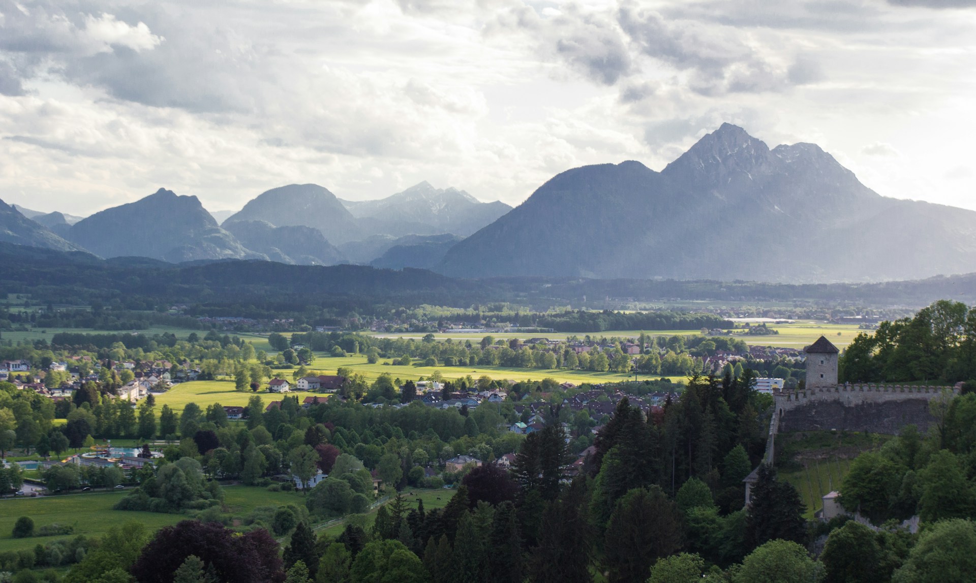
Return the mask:
[[[747,533],[752,548],[774,539],[805,542],[805,508],[796,488],[778,481],[776,470],[768,464],[760,465],[757,474],[747,514]]]

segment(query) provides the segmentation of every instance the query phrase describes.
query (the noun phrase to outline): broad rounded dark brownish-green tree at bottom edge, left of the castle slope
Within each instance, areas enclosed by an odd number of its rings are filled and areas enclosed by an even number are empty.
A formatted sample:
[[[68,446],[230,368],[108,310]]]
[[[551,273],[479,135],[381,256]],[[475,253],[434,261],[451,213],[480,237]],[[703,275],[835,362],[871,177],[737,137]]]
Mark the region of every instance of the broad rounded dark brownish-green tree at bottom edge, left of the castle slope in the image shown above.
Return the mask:
[[[680,510],[658,486],[631,489],[607,523],[603,545],[608,581],[643,581],[658,559],[682,546]]]

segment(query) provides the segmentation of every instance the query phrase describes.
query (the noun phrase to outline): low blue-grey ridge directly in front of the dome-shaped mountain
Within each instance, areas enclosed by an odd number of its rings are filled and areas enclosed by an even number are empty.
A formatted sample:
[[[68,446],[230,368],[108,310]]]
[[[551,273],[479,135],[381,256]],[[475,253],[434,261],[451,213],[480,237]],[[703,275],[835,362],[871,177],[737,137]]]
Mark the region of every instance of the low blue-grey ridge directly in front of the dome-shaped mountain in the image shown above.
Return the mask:
[[[236,220],[226,230],[253,252],[290,265],[336,265],[345,257],[318,229],[276,227],[264,220]]]

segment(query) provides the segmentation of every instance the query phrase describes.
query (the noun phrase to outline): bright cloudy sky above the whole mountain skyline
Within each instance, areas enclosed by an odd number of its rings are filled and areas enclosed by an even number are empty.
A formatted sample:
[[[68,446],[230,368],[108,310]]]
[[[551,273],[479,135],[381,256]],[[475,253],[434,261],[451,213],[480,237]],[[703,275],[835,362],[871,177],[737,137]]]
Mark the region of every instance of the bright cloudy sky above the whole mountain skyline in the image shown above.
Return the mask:
[[[729,122],[976,210],[974,73],[976,0],[0,0],[0,199],[427,180],[517,205]]]

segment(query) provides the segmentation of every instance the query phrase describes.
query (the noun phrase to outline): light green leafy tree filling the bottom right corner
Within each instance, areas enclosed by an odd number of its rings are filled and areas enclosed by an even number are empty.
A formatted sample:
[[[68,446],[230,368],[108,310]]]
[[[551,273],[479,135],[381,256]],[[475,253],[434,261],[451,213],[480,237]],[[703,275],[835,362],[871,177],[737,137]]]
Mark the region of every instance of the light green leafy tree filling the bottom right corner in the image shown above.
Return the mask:
[[[968,520],[942,521],[921,531],[918,543],[892,577],[893,583],[962,583],[976,572],[976,527]]]

